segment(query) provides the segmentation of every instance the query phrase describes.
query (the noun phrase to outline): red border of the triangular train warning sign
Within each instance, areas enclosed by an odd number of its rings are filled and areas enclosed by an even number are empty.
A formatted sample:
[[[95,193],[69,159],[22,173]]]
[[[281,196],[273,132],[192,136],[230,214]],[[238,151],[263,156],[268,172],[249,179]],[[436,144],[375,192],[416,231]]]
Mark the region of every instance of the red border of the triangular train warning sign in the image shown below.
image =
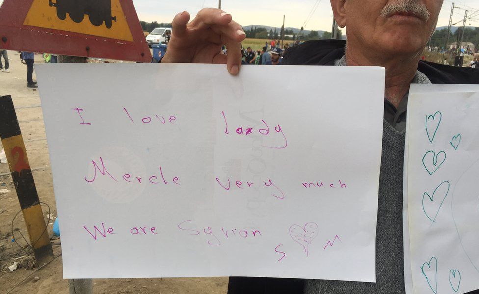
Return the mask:
[[[151,62],[151,52],[132,0],[119,0],[133,42],[24,25],[34,0],[4,0],[0,7],[0,49]]]

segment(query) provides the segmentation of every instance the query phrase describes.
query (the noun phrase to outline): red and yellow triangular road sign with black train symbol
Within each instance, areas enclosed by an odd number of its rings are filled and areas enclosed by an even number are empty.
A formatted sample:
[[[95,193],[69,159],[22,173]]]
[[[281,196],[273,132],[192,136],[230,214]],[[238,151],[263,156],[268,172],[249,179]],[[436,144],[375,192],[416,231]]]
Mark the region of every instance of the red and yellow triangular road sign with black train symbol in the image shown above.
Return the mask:
[[[151,61],[132,0],[4,0],[0,48]]]

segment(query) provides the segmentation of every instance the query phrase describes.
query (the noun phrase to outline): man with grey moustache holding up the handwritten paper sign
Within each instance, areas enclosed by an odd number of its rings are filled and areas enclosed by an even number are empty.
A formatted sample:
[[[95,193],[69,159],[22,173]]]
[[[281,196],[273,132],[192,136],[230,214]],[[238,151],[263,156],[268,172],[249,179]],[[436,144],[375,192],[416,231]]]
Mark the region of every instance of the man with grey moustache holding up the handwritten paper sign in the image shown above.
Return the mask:
[[[409,87],[411,83],[479,82],[476,69],[419,61],[435,30],[443,0],[330,1],[336,22],[346,26],[347,49],[341,40],[309,41],[288,49],[282,63],[386,69],[376,283],[231,277],[230,294],[404,294],[402,185]],[[241,26],[231,15],[213,8],[201,10],[190,23],[189,18],[187,12],[175,16],[175,34],[162,62],[226,63],[229,73],[238,74],[239,43],[245,38]],[[223,43],[228,56],[220,54]],[[367,109],[358,111],[367,115]]]

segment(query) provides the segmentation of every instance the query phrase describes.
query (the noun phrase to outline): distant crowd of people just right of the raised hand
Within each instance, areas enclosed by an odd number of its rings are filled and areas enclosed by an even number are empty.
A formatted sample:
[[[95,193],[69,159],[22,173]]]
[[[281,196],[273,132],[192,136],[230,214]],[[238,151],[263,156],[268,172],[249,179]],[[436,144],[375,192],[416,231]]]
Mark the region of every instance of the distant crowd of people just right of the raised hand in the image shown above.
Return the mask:
[[[242,64],[265,64],[265,65],[278,65],[281,64],[283,58],[283,52],[290,47],[289,43],[280,45],[280,41],[272,40],[271,42],[265,42],[262,50],[253,51],[251,47],[246,49],[242,48]],[[297,40],[292,46],[299,45],[300,41]],[[282,47],[282,48],[281,48]],[[225,52],[226,53],[226,52]]]

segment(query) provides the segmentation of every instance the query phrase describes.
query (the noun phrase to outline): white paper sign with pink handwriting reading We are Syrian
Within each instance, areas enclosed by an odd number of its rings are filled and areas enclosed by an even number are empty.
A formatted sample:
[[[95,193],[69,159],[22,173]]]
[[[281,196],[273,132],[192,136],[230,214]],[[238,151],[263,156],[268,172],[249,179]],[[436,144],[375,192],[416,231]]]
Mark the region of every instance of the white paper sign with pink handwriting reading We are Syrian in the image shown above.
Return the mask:
[[[375,280],[384,69],[36,71],[65,278]]]

